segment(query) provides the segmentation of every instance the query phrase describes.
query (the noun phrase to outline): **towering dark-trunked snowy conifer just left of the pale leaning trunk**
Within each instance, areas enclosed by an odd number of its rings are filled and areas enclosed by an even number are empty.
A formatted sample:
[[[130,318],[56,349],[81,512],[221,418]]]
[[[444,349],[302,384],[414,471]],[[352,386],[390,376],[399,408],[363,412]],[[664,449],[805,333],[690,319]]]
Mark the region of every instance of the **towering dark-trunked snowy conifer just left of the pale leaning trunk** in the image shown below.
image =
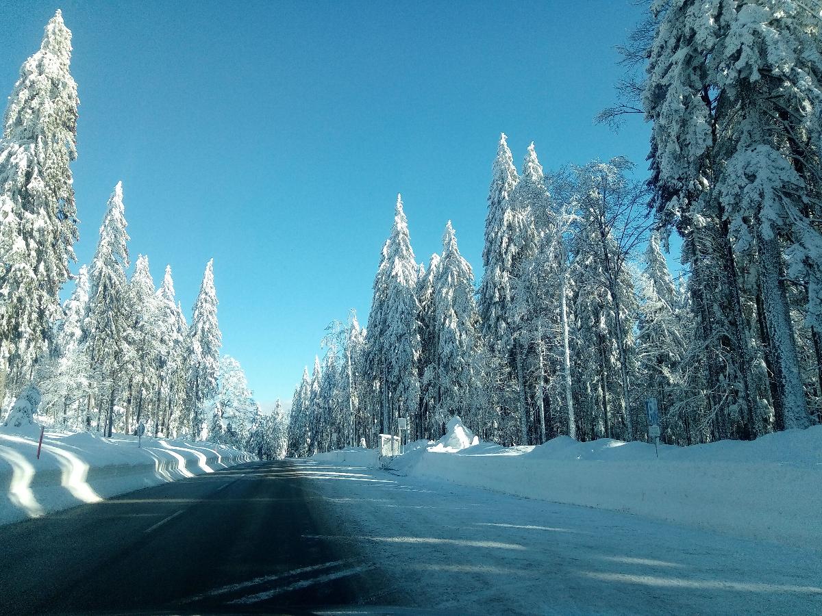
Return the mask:
[[[691,270],[691,314],[700,326],[687,356],[713,439],[753,438],[770,412],[755,383],[760,337],[745,315],[732,217],[714,193],[737,140],[726,122],[739,101],[724,89],[723,37],[729,20],[736,20],[737,11],[747,13],[753,2],[725,5],[653,3],[656,30],[642,99],[645,117],[653,122],[650,186],[658,223],[665,237],[674,226],[680,232],[683,263]],[[753,49],[746,45],[746,51]]]

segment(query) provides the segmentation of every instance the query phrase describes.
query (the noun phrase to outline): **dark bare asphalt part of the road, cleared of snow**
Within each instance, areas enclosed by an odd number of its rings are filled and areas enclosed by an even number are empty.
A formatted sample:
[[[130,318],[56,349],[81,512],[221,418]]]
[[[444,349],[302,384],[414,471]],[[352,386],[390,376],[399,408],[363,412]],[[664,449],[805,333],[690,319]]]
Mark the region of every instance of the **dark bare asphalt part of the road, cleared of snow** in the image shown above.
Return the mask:
[[[381,602],[290,462],[254,462],[0,527],[0,614],[254,613]],[[299,610],[296,610],[299,611]]]

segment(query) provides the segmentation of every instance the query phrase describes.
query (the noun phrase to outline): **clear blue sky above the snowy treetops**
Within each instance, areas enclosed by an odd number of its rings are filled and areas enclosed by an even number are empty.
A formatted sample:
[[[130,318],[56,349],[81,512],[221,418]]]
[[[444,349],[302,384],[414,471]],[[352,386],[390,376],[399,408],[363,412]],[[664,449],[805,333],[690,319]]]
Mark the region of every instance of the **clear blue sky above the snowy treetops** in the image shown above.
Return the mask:
[[[74,34],[81,263],[123,182],[132,260],[166,263],[190,311],[215,260],[224,352],[261,402],[290,399],[330,319],[367,320],[403,194],[427,262],[452,219],[481,276],[501,131],[518,167],[626,154],[649,128],[593,116],[622,76],[634,0],[3,2],[0,92],[57,8]]]

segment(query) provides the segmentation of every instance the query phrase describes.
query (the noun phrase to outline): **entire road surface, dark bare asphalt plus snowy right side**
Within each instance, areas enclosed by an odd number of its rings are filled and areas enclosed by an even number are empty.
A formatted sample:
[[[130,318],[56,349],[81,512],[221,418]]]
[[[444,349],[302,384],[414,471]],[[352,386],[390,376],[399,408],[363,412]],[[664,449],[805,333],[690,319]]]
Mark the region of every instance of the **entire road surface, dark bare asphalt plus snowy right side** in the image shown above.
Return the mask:
[[[822,614],[810,548],[256,462],[0,526],[0,614]]]

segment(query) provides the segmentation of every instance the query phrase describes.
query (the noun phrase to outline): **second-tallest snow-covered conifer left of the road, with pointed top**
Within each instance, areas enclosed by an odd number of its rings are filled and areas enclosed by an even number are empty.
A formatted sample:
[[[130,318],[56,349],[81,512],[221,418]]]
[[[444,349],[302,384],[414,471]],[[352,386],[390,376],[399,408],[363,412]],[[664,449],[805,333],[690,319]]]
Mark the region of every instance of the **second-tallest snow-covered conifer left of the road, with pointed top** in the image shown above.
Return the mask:
[[[104,404],[101,398],[97,420],[99,426],[100,413],[106,413],[104,432],[107,436],[112,434],[114,402],[127,354],[127,241],[122,182],[118,182],[109,197],[97,251],[91,261],[85,339],[92,370],[101,384],[101,395],[107,395]]]

